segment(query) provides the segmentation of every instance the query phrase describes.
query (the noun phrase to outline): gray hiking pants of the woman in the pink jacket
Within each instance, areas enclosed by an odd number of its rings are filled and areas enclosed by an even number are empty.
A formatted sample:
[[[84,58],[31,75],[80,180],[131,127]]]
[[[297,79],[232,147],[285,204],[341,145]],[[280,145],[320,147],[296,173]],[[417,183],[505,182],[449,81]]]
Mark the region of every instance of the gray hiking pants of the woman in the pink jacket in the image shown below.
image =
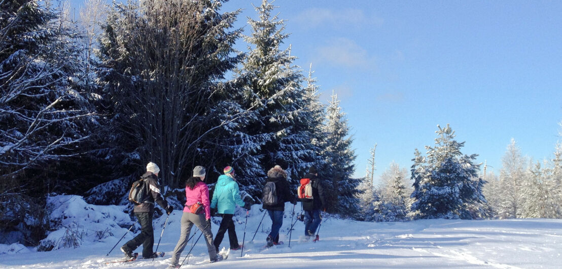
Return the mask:
[[[179,256],[182,254],[185,245],[187,245],[189,233],[191,233],[193,224],[195,224],[195,226],[197,226],[197,228],[199,228],[205,236],[207,250],[209,251],[209,258],[214,259],[216,257],[216,249],[212,241],[211,227],[206,227],[207,221],[205,220],[205,214],[196,215],[191,212],[183,212],[182,228],[180,228],[178,244],[176,244],[176,247],[174,248],[174,254],[172,254],[171,263],[173,265],[179,265]],[[198,236],[193,236],[191,240],[197,240],[196,237]]]

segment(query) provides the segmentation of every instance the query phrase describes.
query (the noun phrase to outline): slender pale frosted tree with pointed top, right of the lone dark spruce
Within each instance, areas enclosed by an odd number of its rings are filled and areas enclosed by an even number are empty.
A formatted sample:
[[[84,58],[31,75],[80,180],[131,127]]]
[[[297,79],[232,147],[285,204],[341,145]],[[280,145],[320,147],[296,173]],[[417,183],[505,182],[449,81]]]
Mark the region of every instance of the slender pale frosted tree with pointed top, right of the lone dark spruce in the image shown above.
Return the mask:
[[[502,157],[500,170],[500,219],[515,219],[522,217],[523,182],[527,178],[529,160],[521,155],[521,151],[512,138],[507,151]]]

